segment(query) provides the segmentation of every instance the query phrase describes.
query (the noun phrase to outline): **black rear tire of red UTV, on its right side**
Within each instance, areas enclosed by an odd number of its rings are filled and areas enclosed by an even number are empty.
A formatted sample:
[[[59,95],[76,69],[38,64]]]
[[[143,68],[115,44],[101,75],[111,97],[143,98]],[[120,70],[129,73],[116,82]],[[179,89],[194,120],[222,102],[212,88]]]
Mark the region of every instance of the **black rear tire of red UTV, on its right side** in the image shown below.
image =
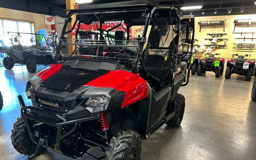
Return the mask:
[[[171,108],[175,108],[175,115],[165,124],[171,128],[179,127],[185,112],[185,97],[177,93],[173,102],[171,102]]]

